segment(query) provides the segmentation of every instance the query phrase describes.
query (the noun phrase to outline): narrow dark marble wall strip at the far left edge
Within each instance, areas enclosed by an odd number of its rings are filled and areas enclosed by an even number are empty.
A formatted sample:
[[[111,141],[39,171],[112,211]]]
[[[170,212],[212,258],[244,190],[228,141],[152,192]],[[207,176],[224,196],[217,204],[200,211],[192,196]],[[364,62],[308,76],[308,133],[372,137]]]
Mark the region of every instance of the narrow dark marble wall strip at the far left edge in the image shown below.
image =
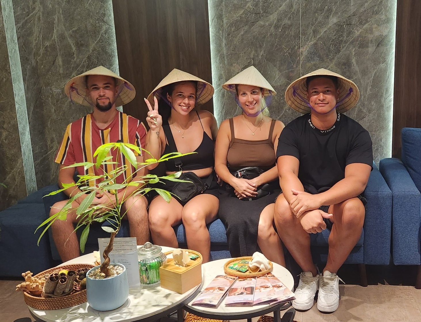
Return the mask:
[[[0,6],[0,211],[26,197],[13,84]]]

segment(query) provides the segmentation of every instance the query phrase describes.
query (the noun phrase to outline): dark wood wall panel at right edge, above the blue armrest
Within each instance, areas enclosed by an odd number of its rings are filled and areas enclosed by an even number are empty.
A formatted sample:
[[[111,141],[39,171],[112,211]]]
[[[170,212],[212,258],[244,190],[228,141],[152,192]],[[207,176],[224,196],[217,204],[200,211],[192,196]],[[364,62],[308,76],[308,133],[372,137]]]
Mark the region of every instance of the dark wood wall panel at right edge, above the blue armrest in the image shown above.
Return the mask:
[[[421,1],[397,0],[392,156],[402,127],[421,127]]]

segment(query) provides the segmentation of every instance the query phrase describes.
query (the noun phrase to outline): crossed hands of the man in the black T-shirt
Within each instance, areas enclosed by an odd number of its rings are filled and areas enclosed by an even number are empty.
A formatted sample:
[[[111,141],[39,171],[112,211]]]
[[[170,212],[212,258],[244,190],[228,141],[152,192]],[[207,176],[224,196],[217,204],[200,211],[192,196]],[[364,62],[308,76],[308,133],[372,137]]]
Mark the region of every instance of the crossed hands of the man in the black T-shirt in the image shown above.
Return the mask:
[[[333,215],[319,209],[322,206],[320,196],[295,189],[291,191],[294,197],[290,201],[290,209],[300,219],[303,229],[313,234],[325,230],[323,218],[331,218]]]

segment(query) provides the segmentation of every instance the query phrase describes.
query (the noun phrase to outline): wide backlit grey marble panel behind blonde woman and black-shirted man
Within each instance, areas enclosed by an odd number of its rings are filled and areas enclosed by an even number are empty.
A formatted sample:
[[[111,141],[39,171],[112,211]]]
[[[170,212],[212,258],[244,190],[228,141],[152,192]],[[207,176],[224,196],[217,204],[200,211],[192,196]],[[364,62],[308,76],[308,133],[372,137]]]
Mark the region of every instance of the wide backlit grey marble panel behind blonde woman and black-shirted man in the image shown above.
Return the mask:
[[[215,116],[240,113],[221,85],[254,65],[278,95],[271,116],[285,124],[290,82],[319,68],[352,79],[361,92],[347,113],[373,140],[376,161],[390,156],[396,0],[209,0]]]

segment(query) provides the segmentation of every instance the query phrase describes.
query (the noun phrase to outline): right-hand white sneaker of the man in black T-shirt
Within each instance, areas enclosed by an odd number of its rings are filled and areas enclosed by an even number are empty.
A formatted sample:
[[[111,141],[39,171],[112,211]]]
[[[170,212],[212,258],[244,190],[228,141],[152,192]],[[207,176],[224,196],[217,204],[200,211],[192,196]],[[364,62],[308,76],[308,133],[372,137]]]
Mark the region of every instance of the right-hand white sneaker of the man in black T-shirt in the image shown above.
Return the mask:
[[[336,273],[329,271],[320,274],[319,295],[317,298],[317,309],[321,312],[334,312],[339,306],[339,281]]]

